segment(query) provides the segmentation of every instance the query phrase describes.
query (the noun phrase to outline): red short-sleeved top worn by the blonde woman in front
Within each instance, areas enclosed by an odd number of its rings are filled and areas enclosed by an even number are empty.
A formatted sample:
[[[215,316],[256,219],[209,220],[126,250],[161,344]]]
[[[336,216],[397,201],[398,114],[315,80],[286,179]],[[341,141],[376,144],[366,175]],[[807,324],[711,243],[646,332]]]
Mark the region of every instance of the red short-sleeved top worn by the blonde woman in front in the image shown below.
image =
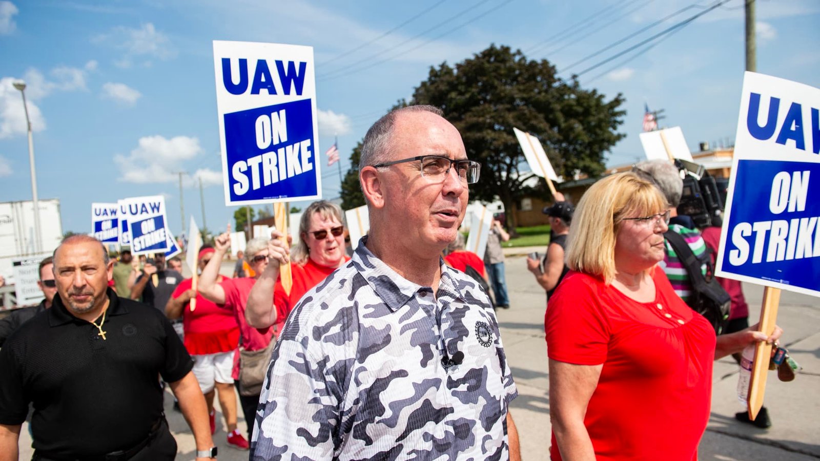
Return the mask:
[[[584,418],[599,460],[696,460],[706,430],[714,330],[661,269],[652,279],[652,303],[579,272],[569,272],[549,299],[549,358],[604,364]],[[550,455],[561,459],[554,434]]]

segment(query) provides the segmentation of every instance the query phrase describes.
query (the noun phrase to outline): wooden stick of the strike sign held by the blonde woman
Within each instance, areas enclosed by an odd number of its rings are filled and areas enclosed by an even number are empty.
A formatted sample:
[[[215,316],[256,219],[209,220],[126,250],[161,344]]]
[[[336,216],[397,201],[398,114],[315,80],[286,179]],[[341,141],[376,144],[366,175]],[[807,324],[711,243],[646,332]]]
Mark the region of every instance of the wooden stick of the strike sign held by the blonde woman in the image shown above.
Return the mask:
[[[763,307],[760,310],[759,331],[772,335],[777,321],[777,308],[780,305],[780,289],[767,286],[763,289]],[[746,399],[749,409],[749,419],[754,421],[763,407],[763,394],[766,391],[766,377],[768,363],[772,357],[772,345],[766,341],[754,346],[754,365],[752,377],[749,381],[749,395]]]

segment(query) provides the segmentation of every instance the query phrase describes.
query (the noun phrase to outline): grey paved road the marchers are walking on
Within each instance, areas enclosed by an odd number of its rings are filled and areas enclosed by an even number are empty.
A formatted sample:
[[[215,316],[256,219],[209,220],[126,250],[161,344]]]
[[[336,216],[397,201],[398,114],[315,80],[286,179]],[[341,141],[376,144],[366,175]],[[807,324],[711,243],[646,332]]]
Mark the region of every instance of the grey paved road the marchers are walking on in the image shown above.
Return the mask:
[[[507,280],[512,307],[499,311],[504,349],[507,352],[519,396],[512,412],[521,436],[522,455],[526,461],[549,459],[549,400],[547,350],[544,342],[544,290],[526,271],[525,260],[516,254],[531,249],[510,251]],[[535,251],[535,249],[532,249]],[[543,251],[543,249],[540,249]],[[232,267],[225,265],[226,271]],[[763,289],[745,285],[752,310],[759,315]],[[742,411],[736,399],[737,366],[731,358],[715,363],[712,415],[700,444],[701,460],[809,461],[820,459],[820,302],[818,299],[786,291],[781,296],[778,323],[786,330],[781,343],[804,367],[795,381],[785,383],[769,373],[766,405],[774,425],[768,430],[736,422],[734,414]],[[171,396],[166,398],[166,414],[180,445],[179,459],[194,458],[194,442],[180,413],[171,410]],[[221,414],[217,414],[221,416]],[[225,430],[220,424],[216,445],[219,459],[247,459],[225,445]],[[240,419],[240,430],[244,421]],[[23,431],[22,447],[30,444]],[[21,459],[30,459],[30,449],[21,450]]]

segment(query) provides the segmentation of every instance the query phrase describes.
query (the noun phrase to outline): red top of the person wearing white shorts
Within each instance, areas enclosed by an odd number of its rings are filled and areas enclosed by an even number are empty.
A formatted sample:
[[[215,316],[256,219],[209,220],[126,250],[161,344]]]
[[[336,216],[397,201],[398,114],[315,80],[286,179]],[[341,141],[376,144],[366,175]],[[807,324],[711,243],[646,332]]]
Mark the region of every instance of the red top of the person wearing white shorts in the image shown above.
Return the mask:
[[[179,298],[191,289],[193,279],[185,279],[176,285],[171,297]],[[239,325],[229,310],[217,308],[216,304],[197,293],[197,306],[191,312],[190,303],[182,308],[182,326],[185,329],[185,349],[188,354],[203,355],[228,352],[239,345]]]

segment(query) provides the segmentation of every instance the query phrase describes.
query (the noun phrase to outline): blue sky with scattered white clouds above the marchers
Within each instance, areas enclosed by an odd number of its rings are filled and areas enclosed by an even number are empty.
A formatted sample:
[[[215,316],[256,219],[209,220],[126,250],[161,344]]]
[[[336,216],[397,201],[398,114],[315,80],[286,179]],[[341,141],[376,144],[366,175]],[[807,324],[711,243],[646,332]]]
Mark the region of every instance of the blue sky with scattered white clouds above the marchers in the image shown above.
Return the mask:
[[[351,149],[371,123],[408,98],[430,66],[461,62],[496,43],[549,59],[561,71],[689,7],[559,74],[566,78],[712,4],[0,0],[0,201],[31,198],[15,80],[28,84],[39,197],[61,200],[63,230],[88,232],[92,202],[163,194],[171,230],[179,233],[175,171],[188,173],[186,215],[202,225],[201,178],[207,226],[224,230],[235,208],[225,207],[221,187],[214,39],[314,47],[320,149],[329,148],[338,133],[344,173]],[[758,0],[757,21],[758,71],[820,86],[820,2]],[[585,88],[626,98],[626,139],[608,153],[609,165],[643,157],[638,134],[645,103],[663,108],[662,125],[681,126],[692,150],[700,141],[731,143],[745,68],[743,0],[725,3],[633,56],[580,77]],[[322,176],[324,197],[337,197],[336,166],[324,168]]]

